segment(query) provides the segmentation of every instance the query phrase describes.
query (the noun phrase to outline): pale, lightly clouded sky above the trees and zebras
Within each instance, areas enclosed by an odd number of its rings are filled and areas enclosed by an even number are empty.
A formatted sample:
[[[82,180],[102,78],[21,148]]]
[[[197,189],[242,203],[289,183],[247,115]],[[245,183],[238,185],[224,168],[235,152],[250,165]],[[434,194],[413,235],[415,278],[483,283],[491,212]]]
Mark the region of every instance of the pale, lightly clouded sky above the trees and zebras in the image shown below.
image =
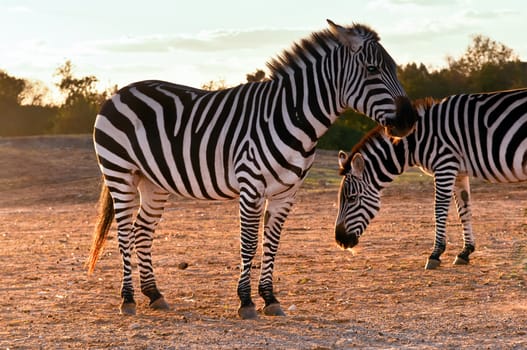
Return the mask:
[[[0,0],[0,70],[52,87],[70,60],[100,87],[237,85],[326,19],[369,25],[398,64],[446,67],[477,34],[527,61],[524,0]]]

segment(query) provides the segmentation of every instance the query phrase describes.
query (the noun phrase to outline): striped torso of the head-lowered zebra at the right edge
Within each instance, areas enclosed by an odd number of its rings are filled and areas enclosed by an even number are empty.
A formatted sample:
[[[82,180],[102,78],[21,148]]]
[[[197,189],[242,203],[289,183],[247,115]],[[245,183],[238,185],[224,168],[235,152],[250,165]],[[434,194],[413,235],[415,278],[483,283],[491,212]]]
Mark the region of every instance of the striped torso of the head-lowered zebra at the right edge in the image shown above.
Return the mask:
[[[527,89],[453,95],[417,110],[417,164],[450,164],[490,182],[527,180]]]

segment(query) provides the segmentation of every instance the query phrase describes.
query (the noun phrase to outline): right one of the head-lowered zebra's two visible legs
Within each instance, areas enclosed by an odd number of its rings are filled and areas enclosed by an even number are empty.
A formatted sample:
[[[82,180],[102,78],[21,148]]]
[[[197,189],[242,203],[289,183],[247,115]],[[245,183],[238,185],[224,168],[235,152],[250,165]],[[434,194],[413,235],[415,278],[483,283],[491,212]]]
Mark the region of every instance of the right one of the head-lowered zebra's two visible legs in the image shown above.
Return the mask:
[[[457,213],[463,226],[463,250],[454,260],[454,265],[467,265],[469,255],[476,247],[472,233],[471,208],[470,208],[470,182],[468,176],[458,176],[454,186]]]

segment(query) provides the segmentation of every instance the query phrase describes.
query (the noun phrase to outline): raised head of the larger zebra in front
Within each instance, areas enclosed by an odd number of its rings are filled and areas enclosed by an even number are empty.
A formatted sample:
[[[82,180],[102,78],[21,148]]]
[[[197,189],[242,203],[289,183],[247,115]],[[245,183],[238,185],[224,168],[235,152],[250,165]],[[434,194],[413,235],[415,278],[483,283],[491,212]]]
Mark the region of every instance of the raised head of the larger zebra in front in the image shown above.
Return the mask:
[[[341,104],[371,117],[390,136],[408,135],[417,113],[397,78],[395,61],[379,43],[377,33],[360,24],[344,28],[327,21],[345,51],[340,67]]]

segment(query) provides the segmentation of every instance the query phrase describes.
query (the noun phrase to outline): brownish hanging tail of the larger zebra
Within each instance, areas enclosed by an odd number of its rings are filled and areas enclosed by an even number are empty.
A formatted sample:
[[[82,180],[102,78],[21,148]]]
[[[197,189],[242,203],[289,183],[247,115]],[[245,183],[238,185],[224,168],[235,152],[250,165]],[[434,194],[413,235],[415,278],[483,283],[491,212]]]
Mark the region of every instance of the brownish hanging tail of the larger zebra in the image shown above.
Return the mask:
[[[95,264],[102,254],[104,243],[108,237],[108,231],[112,225],[115,212],[113,210],[113,200],[110,195],[108,186],[103,182],[101,194],[99,197],[99,218],[97,219],[97,226],[93,232],[93,241],[90,249],[90,256],[86,262],[88,273],[91,274],[95,269]]]

